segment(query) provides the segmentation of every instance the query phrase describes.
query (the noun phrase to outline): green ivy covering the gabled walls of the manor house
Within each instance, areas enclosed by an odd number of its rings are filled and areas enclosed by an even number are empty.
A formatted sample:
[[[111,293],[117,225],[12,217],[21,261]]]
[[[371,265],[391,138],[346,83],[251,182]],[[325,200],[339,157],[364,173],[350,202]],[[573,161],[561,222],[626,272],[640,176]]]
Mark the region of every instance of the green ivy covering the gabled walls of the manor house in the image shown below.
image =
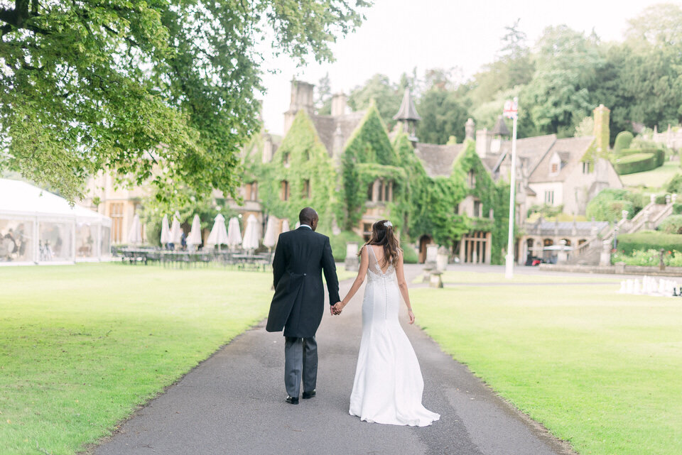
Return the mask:
[[[407,134],[397,131],[391,143],[379,111],[372,105],[345,144],[338,169],[305,111],[296,115],[271,163],[261,163],[261,149],[260,143],[249,145],[244,158],[250,163],[245,163],[244,168],[253,180],[258,180],[267,214],[293,222],[301,208],[309,205],[320,214],[321,232],[331,235],[335,219],[350,235],[348,231],[357,229],[367,209],[379,207],[404,240],[416,241],[426,234],[436,243],[451,247],[469,231],[492,232],[492,262],[503,261],[509,185],[497,185],[492,180],[473,141],[465,144],[450,175],[429,177]],[[476,175],[473,188],[467,186],[470,170]],[[290,187],[286,201],[281,198],[283,180]],[[393,182],[391,202],[367,202],[368,189],[376,180]],[[304,194],[305,181],[310,182],[310,197]],[[481,201],[483,218],[456,212],[468,195]],[[494,219],[487,218],[490,209]]]

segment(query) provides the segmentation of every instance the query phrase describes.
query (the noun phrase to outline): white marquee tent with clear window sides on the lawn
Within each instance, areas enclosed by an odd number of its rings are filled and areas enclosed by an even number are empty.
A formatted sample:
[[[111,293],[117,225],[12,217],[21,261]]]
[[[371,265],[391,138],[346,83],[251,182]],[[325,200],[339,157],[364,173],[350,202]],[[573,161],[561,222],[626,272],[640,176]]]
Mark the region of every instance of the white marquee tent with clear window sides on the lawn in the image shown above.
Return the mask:
[[[102,261],[112,219],[18,180],[0,179],[0,265]]]

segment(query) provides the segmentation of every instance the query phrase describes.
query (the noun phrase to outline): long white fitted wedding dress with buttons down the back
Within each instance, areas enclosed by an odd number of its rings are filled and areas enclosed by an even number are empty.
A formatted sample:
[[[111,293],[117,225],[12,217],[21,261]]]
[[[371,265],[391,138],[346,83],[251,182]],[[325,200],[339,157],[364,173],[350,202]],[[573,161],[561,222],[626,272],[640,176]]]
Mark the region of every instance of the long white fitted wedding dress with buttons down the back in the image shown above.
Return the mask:
[[[350,414],[381,424],[424,427],[440,418],[421,404],[424,381],[412,344],[398,322],[396,270],[381,270],[372,247],[362,302],[362,341]]]

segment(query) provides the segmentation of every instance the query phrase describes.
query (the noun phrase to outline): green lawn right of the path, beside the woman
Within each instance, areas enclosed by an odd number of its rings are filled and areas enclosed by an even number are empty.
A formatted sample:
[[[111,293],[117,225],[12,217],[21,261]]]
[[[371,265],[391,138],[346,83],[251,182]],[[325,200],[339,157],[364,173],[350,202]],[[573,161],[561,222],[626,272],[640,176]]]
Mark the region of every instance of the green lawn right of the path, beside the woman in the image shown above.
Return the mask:
[[[411,296],[445,351],[580,454],[681,454],[682,302],[618,289],[462,286]]]

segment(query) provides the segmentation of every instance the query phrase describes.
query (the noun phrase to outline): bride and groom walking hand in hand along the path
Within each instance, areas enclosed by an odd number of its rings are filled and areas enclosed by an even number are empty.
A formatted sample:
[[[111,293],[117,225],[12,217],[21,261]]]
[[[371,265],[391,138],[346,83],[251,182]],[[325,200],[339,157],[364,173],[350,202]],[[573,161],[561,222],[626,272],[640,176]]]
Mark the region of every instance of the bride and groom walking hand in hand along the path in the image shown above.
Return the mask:
[[[372,226],[360,250],[357,278],[340,299],[339,282],[329,238],[318,234],[318,214],[305,207],[301,227],[279,236],[272,264],[275,294],[268,331],[284,331],[286,402],[298,404],[315,396],[318,350],[315,342],[324,313],[322,272],[329,292],[330,313],[341,314],[367,278],[362,302],[362,341],[350,395],[350,414],[367,422],[423,427],[440,418],[421,404],[424,383],[416,355],[398,322],[400,297],[414,322],[403,270],[403,255],[391,221]]]

